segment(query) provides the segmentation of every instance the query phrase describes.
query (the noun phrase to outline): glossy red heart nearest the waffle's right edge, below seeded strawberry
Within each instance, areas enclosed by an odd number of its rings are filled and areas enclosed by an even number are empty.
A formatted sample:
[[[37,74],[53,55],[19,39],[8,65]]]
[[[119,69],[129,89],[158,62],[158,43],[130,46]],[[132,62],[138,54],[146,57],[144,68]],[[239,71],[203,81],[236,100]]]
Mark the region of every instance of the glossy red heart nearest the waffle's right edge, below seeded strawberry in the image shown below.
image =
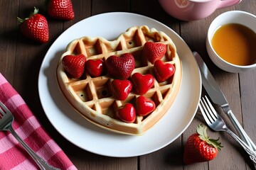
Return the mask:
[[[154,63],[154,74],[156,75],[156,79],[159,82],[166,81],[169,79],[175,72],[175,67],[173,64],[162,62],[161,60],[156,60]]]

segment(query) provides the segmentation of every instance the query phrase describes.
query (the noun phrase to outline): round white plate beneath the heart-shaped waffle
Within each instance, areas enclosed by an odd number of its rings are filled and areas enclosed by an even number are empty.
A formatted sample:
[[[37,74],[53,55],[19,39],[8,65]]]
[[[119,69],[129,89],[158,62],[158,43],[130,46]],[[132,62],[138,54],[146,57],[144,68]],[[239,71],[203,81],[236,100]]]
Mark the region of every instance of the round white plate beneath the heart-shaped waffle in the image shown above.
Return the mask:
[[[164,31],[176,44],[183,65],[181,89],[168,113],[146,134],[119,135],[92,125],[73,110],[58,89],[55,77],[56,64],[68,42],[76,38],[87,35],[114,40],[127,28],[142,25]],[[55,40],[41,65],[38,90],[50,123],[65,139],[96,154],[110,157],[134,157],[169,145],[186,130],[198,108],[201,77],[191,50],[173,30],[146,16],[114,12],[86,18],[65,30]]]

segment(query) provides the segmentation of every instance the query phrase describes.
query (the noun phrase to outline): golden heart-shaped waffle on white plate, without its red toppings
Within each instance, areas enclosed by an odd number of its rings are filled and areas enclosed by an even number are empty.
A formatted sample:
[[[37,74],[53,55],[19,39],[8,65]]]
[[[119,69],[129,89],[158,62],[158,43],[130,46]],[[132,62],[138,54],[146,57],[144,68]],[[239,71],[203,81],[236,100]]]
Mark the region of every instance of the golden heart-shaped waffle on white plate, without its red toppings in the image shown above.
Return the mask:
[[[111,55],[120,56],[129,52],[134,56],[136,63],[132,74],[139,72],[154,76],[153,64],[142,57],[142,49],[147,41],[161,42],[167,46],[166,55],[161,60],[174,64],[176,71],[170,79],[164,82],[154,80],[154,86],[143,96],[154,101],[156,109],[146,116],[137,115],[134,123],[124,123],[115,117],[115,113],[117,108],[123,106],[124,103],[134,103],[139,95],[131,92],[126,100],[119,101],[112,96],[109,90],[112,77],[108,74],[90,77],[85,73],[84,79],[72,79],[66,74],[61,62],[65,55],[83,54],[87,60],[102,59],[105,61]],[[164,116],[178,94],[181,76],[181,60],[176,53],[174,42],[165,33],[155,28],[149,29],[147,26],[131,27],[111,41],[99,37],[82,37],[73,40],[66,47],[57,66],[60,90],[80,115],[101,128],[127,135],[143,135]]]

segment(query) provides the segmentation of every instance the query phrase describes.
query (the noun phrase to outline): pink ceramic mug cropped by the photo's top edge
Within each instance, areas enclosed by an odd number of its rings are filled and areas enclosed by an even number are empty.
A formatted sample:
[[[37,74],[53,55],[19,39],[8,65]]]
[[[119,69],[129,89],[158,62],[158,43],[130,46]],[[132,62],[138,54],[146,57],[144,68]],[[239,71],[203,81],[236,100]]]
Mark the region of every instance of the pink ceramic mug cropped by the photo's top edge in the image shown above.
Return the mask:
[[[216,9],[233,6],[242,0],[159,0],[162,8],[174,18],[194,21],[210,16]]]

